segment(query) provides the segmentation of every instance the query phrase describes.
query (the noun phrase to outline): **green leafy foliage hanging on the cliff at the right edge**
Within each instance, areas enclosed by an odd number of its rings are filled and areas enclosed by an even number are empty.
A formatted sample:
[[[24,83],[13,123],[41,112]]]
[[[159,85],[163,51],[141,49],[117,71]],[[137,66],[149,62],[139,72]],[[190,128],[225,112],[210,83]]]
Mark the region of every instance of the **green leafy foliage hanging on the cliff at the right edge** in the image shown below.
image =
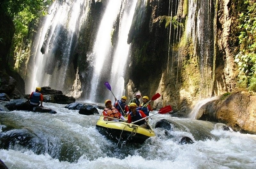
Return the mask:
[[[247,10],[239,16],[241,30],[239,35],[240,52],[236,55],[240,73],[240,85],[256,91],[256,2],[246,0]]]

